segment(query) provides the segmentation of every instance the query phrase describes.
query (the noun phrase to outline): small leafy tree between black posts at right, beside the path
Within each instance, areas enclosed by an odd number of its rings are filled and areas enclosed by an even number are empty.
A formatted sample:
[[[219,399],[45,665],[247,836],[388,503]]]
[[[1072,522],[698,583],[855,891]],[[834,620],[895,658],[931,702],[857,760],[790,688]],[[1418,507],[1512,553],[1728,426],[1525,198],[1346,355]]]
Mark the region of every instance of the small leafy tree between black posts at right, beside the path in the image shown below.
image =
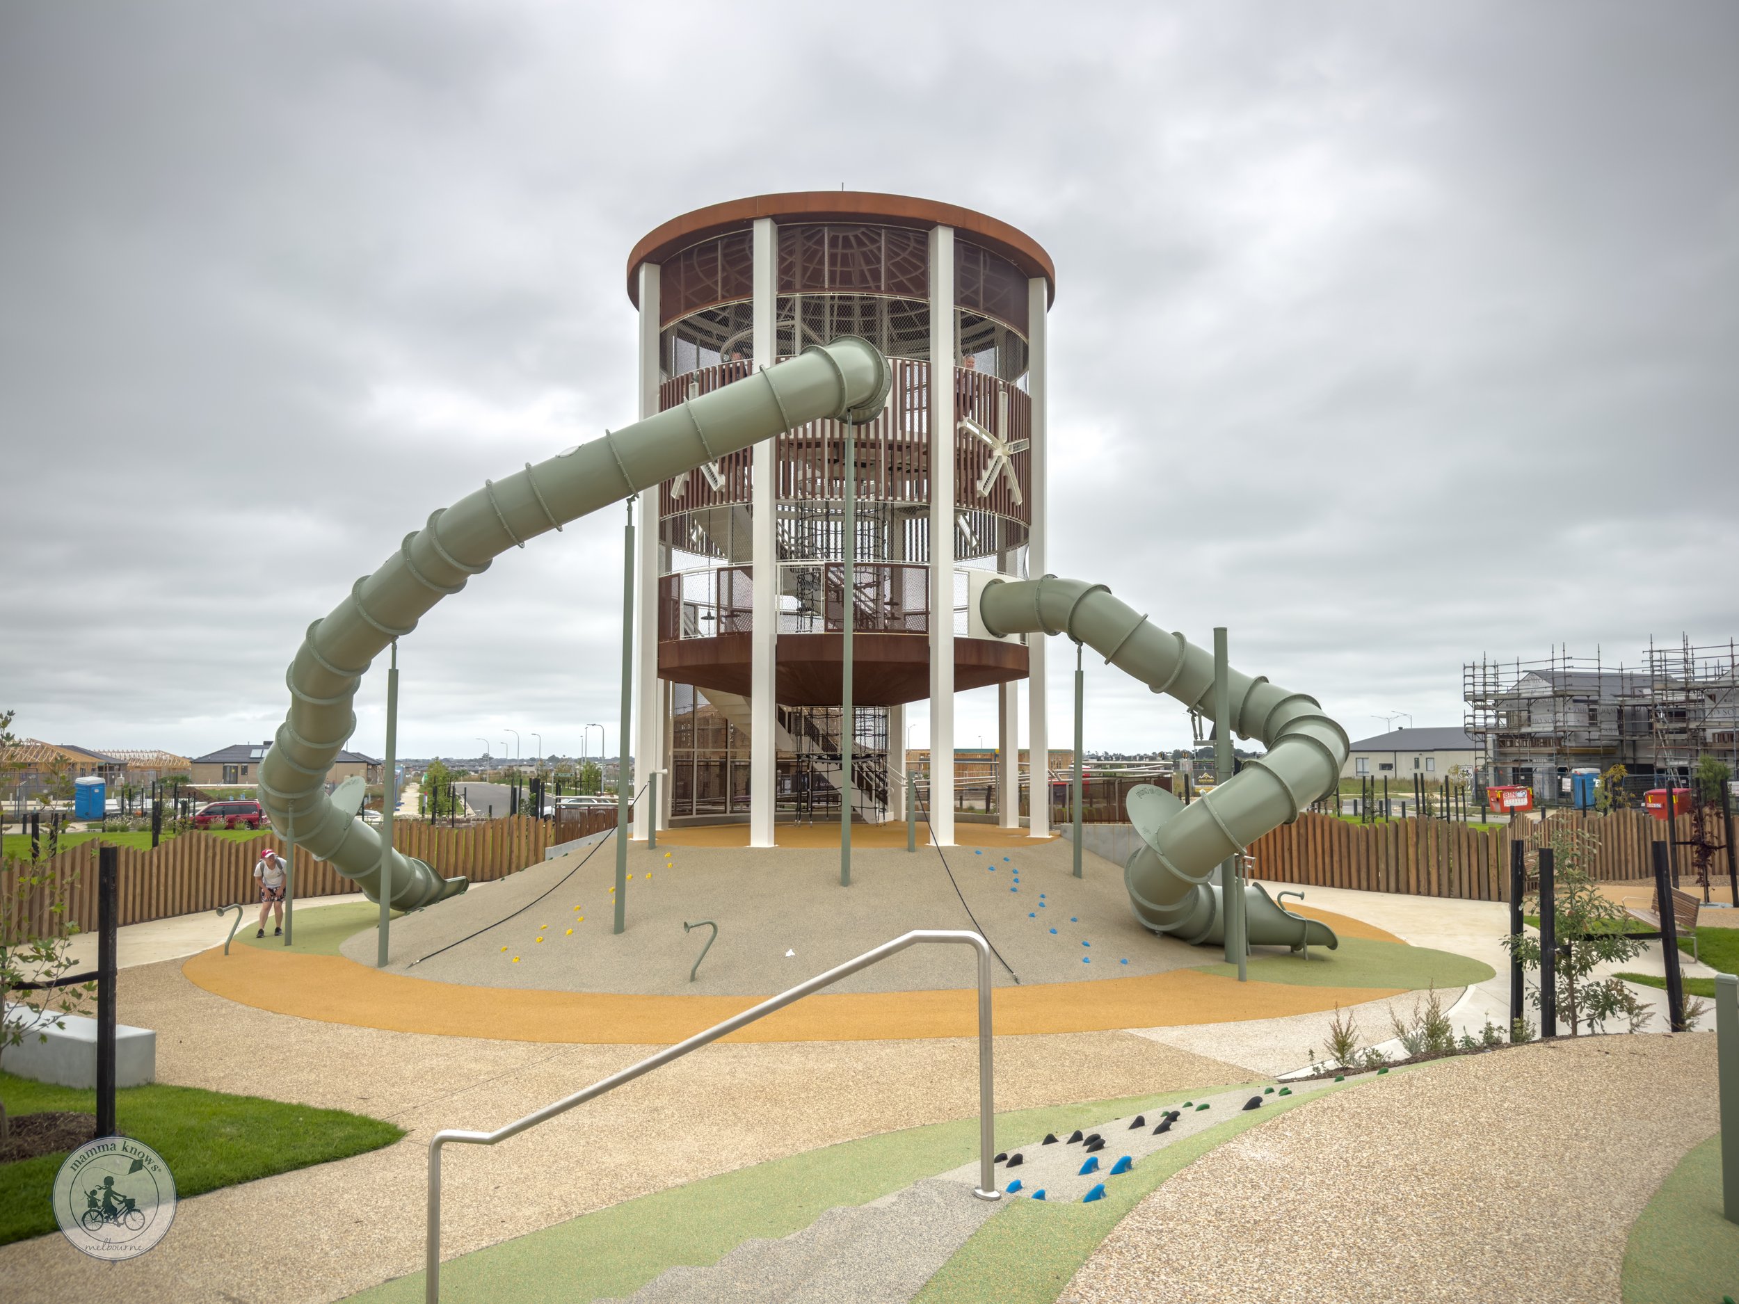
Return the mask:
[[[1553,927],[1555,935],[1574,939],[1558,944],[1551,958],[1558,988],[1558,1012],[1570,1024],[1570,1036],[1605,1031],[1607,1019],[1622,1017],[1629,1031],[1640,1031],[1649,1012],[1621,979],[1595,979],[1595,970],[1605,963],[1621,963],[1643,951],[1643,942],[1624,932],[1624,909],[1609,901],[1588,873],[1588,862],[1598,848],[1598,838],[1569,824],[1546,821],[1546,845],[1553,850]],[[1529,897],[1532,915],[1541,913],[1539,894]],[[1586,939],[1586,941],[1584,941]],[[1506,935],[1504,948],[1523,970],[1541,968],[1539,934]],[[1529,993],[1534,1008],[1542,1008],[1539,982]]]

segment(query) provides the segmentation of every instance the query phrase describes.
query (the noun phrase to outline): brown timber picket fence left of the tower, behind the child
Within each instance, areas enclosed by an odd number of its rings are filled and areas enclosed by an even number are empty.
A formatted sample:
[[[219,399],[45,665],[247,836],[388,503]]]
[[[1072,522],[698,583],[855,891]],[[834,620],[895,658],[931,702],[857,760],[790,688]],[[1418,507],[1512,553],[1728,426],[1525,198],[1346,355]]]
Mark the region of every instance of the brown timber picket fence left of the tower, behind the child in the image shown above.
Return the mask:
[[[567,814],[567,812],[563,812]],[[530,815],[504,815],[496,821],[447,826],[419,821],[395,821],[393,847],[405,855],[428,861],[443,876],[464,875],[473,883],[506,878],[541,864],[544,850],[556,842],[584,836],[616,826],[614,810],[586,810],[586,824],[576,833],[572,819],[558,828]],[[596,826],[596,828],[591,828]],[[271,847],[283,854],[283,840],[275,833],[238,842],[210,833],[183,833],[155,850],[120,847],[120,925],[163,920],[219,909],[235,902],[254,904],[254,864]],[[30,892],[23,916],[40,932],[54,927],[56,906],[61,920],[77,923],[80,932],[96,927],[97,918],[97,840],[82,842],[50,861],[0,864],[0,892],[12,899],[21,876],[37,875],[43,882]],[[341,895],[356,885],[332,866],[316,861],[306,847],[296,848],[296,899]]]

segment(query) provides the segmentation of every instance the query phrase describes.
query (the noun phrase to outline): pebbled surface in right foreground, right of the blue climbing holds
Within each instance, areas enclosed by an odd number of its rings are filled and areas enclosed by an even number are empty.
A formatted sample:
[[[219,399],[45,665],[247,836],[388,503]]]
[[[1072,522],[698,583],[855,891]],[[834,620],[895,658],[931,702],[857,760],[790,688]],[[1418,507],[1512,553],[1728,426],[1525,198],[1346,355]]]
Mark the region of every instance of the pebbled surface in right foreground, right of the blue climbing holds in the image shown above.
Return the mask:
[[[1716,1127],[1706,1033],[1581,1038],[1389,1074],[1172,1177],[1059,1304],[1617,1304],[1631,1222]]]

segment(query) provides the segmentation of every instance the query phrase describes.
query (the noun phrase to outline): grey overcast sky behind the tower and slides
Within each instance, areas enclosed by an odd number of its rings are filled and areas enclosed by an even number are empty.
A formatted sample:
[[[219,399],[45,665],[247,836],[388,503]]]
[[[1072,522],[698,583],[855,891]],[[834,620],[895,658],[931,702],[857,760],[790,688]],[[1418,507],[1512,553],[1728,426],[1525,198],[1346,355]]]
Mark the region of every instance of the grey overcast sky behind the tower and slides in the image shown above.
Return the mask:
[[[633,417],[640,235],[842,183],[1056,259],[1050,569],[1229,626],[1353,737],[1457,723],[1480,654],[1725,642],[1736,123],[1729,0],[12,0],[0,709],[268,737],[306,624],[431,508]],[[402,753],[614,751],[619,548],[603,511],[424,619]],[[1188,737],[1087,692],[1090,748]],[[993,722],[962,695],[962,746]]]

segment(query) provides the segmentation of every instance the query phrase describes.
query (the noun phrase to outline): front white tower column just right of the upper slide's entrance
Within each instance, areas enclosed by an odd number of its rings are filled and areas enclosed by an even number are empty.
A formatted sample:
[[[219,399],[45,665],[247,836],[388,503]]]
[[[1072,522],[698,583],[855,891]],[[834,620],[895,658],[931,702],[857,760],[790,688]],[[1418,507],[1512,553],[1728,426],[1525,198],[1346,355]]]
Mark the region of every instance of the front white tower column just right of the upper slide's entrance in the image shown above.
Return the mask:
[[[955,228],[930,230],[930,828],[955,845]]]

